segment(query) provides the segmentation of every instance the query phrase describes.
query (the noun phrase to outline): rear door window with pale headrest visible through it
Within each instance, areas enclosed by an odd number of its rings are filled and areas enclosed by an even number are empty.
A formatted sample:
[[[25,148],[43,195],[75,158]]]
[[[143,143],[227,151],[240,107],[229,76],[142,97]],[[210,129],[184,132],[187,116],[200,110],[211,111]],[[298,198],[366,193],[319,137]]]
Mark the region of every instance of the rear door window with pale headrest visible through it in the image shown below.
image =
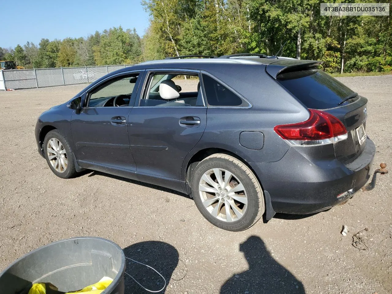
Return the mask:
[[[204,106],[197,73],[153,73],[139,106]]]

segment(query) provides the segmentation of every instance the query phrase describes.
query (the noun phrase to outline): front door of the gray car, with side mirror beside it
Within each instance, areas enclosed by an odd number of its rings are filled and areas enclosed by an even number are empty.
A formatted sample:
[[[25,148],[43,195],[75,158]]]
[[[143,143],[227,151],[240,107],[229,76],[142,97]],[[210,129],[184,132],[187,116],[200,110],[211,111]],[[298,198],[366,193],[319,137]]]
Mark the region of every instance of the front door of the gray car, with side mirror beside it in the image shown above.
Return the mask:
[[[139,76],[142,73],[118,74],[87,90],[84,107],[71,118],[74,153],[82,167],[136,171],[127,124]]]

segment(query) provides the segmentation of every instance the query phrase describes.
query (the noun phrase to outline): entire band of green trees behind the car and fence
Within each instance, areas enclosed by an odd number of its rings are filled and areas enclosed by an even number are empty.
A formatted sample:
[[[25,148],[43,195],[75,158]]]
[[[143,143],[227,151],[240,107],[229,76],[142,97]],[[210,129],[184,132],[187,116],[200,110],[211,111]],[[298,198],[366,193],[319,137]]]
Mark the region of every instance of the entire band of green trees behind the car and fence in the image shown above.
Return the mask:
[[[142,5],[150,15],[143,36],[112,27],[87,37],[42,38],[39,44],[0,48],[0,60],[44,68],[279,51],[322,60],[328,73],[392,69],[390,16],[320,16],[315,0],[143,0]]]

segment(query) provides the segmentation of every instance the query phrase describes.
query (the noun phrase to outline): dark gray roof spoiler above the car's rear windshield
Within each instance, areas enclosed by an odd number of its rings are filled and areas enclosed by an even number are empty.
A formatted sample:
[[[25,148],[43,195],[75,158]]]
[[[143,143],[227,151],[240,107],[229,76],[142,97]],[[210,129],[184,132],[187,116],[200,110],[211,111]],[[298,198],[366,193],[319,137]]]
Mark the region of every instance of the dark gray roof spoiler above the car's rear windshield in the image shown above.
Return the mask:
[[[279,74],[289,73],[291,71],[302,71],[305,69],[315,68],[322,64],[322,61],[316,60],[298,60],[285,59],[272,62],[265,67],[265,71],[276,80]]]

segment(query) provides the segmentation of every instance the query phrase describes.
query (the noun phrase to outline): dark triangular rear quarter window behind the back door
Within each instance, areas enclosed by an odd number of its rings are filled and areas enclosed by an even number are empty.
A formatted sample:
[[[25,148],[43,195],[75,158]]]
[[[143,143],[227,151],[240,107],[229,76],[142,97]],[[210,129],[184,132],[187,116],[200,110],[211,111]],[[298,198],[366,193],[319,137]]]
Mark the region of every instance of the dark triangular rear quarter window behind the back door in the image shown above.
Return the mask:
[[[237,94],[207,74],[203,74],[203,85],[208,105],[239,106],[242,104],[242,99]]]

